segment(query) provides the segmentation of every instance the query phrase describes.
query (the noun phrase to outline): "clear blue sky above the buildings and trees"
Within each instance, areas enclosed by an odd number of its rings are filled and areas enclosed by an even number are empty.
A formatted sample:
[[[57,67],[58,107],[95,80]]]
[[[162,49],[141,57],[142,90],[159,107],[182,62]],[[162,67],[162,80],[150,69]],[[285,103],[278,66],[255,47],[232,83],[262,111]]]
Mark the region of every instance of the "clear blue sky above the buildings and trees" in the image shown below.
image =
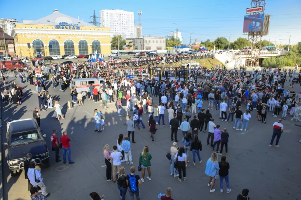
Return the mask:
[[[301,0],[266,0],[265,14],[271,15],[269,35],[263,39],[277,44],[301,41]],[[37,20],[50,15],[54,9],[71,17],[89,22],[95,9],[96,16],[102,9],[122,9],[134,12],[138,25],[137,11],[142,10],[143,35],[167,36],[176,28],[182,33],[183,43],[189,44],[197,37],[215,40],[219,36],[230,36],[230,41],[243,35],[243,21],[251,0],[0,0],[0,18]],[[35,6],[33,6],[33,4]],[[176,23],[172,24],[172,23]]]

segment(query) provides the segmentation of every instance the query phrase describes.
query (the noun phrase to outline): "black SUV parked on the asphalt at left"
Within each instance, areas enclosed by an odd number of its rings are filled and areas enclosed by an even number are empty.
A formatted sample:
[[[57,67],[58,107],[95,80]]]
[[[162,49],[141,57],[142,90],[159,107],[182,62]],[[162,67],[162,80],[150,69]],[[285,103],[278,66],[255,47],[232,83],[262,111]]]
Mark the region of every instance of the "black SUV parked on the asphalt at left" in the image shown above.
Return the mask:
[[[49,150],[35,119],[20,119],[7,123],[7,164],[11,175],[19,173],[24,168],[27,153],[32,154],[32,159],[37,165],[49,167]]]

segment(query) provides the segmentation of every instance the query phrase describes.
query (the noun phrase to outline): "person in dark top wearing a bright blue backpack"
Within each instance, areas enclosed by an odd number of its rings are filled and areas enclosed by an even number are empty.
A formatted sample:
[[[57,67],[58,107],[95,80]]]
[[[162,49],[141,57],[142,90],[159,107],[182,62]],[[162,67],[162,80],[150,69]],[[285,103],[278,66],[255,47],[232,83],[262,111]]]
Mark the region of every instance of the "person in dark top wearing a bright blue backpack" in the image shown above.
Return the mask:
[[[129,187],[130,200],[134,200],[134,195],[136,195],[137,200],[140,200],[139,184],[142,184],[140,176],[135,174],[136,168],[134,166],[130,168],[130,172],[131,173],[126,176],[126,181]]]

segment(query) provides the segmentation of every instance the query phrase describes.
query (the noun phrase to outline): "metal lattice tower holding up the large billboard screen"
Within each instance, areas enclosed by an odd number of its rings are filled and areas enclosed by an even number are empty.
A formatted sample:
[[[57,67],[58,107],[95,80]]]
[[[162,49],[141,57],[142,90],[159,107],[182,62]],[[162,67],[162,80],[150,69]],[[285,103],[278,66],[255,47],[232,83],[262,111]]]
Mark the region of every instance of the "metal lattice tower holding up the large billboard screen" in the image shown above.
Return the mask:
[[[251,8],[259,8],[258,12],[252,12],[250,15],[264,14],[265,0],[251,0]],[[260,32],[248,32],[248,51],[245,60],[245,66],[258,67],[260,59],[260,49],[263,35],[267,35],[269,31],[269,19],[270,16],[264,17],[263,30]]]

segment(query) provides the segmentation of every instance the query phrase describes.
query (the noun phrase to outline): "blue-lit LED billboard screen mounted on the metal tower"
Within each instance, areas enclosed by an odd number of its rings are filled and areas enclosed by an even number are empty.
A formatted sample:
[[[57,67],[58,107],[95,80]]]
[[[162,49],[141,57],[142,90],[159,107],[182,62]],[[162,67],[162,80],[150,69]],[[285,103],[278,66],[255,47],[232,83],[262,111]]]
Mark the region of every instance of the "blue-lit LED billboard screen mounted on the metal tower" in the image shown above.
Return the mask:
[[[244,19],[244,33],[262,32],[263,31],[264,14],[247,15]]]

